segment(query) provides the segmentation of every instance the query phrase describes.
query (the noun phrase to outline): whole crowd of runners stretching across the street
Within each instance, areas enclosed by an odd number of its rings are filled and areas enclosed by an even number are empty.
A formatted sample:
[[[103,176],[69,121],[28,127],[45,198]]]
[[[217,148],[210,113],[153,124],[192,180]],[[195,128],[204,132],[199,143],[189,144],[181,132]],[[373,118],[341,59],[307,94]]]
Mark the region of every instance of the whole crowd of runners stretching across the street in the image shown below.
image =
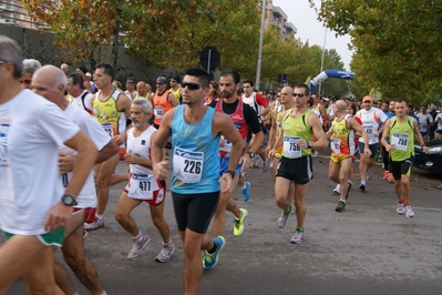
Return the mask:
[[[0,294],[19,277],[31,294],[78,294],[53,257],[58,247],[91,294],[106,294],[83,240],[105,226],[109,187],[121,182],[126,185],[114,218],[132,238],[127,260],[137,260],[150,242],[131,216],[146,202],[163,240],[157,263],[171,260],[177,241],[169,228],[178,228],[185,294],[197,292],[203,268],[216,266],[226,243],[227,211],[234,215],[234,235],[243,234],[249,213],[232,195],[239,185],[243,200],[249,200],[249,167],[274,181],[281,210],[277,226],[296,215],[292,244],[304,238],[312,156],[328,146],[338,213],[353,189],[356,157],[359,190],[366,191],[369,170],[381,154],[384,179],[398,195],[395,212],[413,217],[413,146],[428,152],[424,140],[434,123],[436,136],[442,134],[440,114],[430,120],[422,106],[413,118],[403,99],[379,105],[370,95],[360,101],[319,98],[304,83],[265,95],[235,70],[210,81],[201,69],[188,69],[183,79],[158,77],[154,92],[147,82],[130,78],[123,91],[110,64],[97,64],[92,74],[84,67],[71,73],[68,64],[42,67],[20,52],[14,41],[0,37],[0,226],[6,240]],[[129,173],[115,173],[120,161]],[[166,187],[176,225],[164,218]]]

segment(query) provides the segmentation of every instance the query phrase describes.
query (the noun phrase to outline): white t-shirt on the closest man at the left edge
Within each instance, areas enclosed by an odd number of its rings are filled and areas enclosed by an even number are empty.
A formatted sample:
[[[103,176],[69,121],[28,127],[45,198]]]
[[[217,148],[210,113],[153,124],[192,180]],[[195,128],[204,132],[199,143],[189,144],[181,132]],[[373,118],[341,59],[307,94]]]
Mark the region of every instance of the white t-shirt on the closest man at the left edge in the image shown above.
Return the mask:
[[[44,234],[60,202],[59,149],[80,129],[55,104],[25,89],[0,104],[0,224],[18,235]]]

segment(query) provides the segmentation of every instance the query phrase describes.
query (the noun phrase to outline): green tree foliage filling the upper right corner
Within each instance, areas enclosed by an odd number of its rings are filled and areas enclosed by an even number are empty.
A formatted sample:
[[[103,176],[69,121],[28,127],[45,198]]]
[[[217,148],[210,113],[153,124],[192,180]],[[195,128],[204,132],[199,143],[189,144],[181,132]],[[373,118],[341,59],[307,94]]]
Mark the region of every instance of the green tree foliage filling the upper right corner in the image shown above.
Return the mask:
[[[376,88],[387,99],[419,104],[441,93],[442,1],[325,0],[319,19],[350,33],[359,95]]]

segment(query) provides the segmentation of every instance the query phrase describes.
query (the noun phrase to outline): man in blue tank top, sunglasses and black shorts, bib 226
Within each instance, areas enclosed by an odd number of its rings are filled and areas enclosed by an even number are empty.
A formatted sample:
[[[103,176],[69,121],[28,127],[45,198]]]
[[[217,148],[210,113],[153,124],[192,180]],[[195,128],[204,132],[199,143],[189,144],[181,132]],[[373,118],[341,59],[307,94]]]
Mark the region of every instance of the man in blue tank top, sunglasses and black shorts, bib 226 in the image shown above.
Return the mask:
[[[165,114],[152,145],[154,175],[168,177],[168,162],[162,161],[163,148],[172,134],[172,197],[179,235],[184,244],[184,294],[196,294],[203,275],[201,250],[205,250],[204,267],[218,262],[224,247],[223,236],[214,240],[206,234],[219,202],[219,191],[232,192],[235,169],[239,162],[243,140],[230,118],[204,105],[208,94],[208,74],[201,69],[186,71],[182,82],[183,105]],[[208,128],[210,126],[210,128]],[[219,138],[232,142],[230,163],[219,177]]]

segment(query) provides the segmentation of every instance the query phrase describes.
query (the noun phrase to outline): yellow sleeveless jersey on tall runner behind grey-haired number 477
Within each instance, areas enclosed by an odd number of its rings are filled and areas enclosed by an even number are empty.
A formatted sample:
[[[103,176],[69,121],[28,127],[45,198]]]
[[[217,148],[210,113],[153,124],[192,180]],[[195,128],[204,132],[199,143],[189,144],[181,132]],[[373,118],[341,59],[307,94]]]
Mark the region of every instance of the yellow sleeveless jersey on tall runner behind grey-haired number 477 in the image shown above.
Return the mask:
[[[115,90],[105,101],[100,100],[100,91],[92,101],[92,115],[96,118],[104,131],[111,136],[122,134],[126,130],[126,115],[116,108],[121,92]]]

